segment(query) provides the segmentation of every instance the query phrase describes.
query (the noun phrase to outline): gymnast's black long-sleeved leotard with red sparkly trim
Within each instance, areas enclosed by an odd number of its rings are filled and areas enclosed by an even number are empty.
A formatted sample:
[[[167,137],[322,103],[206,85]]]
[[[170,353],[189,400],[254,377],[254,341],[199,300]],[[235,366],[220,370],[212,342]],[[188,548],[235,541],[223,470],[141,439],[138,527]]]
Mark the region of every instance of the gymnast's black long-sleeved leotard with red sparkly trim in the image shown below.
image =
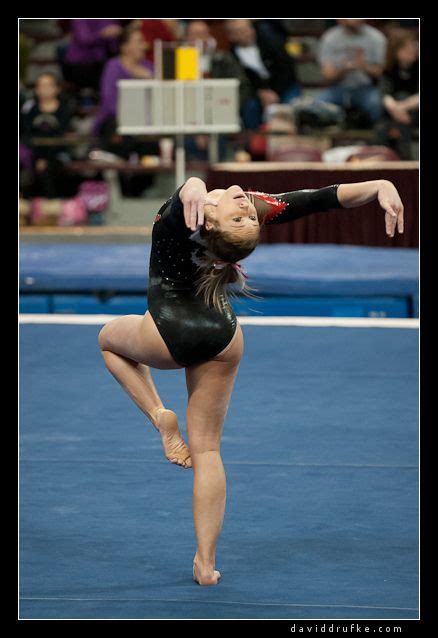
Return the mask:
[[[182,187],[181,187],[182,188]],[[187,228],[179,188],[157,213],[152,229],[148,310],[173,359],[186,367],[218,355],[234,336],[237,319],[225,295],[224,312],[196,296],[194,280],[205,242]],[[331,208],[340,208],[337,185],[278,195],[253,193],[272,206],[265,224],[281,224]],[[257,207],[257,204],[256,204]],[[192,236],[192,238],[191,238]]]

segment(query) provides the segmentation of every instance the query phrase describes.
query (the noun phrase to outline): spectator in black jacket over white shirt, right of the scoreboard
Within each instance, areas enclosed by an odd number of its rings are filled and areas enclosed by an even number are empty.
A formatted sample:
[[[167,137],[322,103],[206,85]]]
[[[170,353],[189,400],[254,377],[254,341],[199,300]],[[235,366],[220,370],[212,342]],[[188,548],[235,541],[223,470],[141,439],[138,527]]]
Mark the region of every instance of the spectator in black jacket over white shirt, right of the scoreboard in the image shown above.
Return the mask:
[[[244,70],[252,95],[242,105],[245,128],[257,129],[270,104],[286,103],[301,93],[295,63],[284,48],[266,38],[251,20],[227,20],[231,51]]]

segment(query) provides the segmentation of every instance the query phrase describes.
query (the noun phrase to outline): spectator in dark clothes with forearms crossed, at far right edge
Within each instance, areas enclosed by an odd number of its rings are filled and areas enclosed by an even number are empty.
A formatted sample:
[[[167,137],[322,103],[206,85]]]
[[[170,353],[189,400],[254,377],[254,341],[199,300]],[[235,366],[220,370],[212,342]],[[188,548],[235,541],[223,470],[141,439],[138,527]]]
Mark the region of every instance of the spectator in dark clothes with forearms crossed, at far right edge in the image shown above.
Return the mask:
[[[412,128],[418,126],[418,42],[415,33],[396,29],[389,35],[388,58],[380,82],[385,114],[379,143],[412,159]]]

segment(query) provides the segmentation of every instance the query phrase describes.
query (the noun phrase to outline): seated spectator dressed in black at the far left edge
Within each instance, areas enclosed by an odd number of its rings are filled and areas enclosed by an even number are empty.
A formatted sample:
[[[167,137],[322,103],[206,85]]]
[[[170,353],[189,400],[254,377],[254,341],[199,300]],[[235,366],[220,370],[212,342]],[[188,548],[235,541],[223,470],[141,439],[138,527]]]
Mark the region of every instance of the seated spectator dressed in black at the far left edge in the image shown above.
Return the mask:
[[[23,157],[28,149],[34,171],[31,196],[56,198],[71,195],[71,180],[67,179],[63,170],[69,156],[66,147],[56,143],[56,138],[69,131],[73,108],[60,97],[60,91],[56,76],[42,73],[35,83],[35,98],[27,100],[21,108]],[[37,138],[54,138],[54,143],[43,144]]]

